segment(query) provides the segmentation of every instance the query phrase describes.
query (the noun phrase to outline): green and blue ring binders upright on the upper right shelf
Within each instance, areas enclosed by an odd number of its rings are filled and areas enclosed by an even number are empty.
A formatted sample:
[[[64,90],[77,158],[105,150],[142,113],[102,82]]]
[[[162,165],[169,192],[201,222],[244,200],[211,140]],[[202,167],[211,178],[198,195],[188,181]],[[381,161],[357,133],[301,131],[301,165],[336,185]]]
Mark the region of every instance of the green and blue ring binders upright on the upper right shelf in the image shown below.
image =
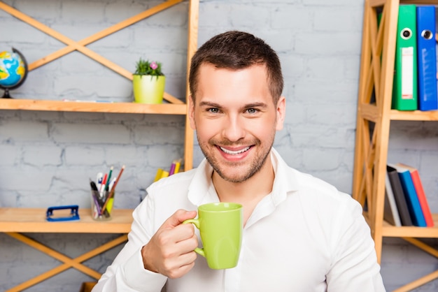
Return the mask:
[[[399,6],[393,109],[438,109],[435,32],[435,6]]]

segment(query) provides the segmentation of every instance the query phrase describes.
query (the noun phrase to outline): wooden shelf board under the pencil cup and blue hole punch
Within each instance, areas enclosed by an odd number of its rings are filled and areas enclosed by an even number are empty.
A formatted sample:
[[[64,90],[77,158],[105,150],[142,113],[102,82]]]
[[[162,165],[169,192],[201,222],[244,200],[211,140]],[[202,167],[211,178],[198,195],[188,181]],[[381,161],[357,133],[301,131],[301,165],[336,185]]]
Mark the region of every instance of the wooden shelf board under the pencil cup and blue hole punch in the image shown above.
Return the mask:
[[[43,208],[0,208],[0,232],[26,233],[129,233],[132,210],[115,209],[108,221],[92,219],[90,209],[79,208],[79,220],[50,222]]]

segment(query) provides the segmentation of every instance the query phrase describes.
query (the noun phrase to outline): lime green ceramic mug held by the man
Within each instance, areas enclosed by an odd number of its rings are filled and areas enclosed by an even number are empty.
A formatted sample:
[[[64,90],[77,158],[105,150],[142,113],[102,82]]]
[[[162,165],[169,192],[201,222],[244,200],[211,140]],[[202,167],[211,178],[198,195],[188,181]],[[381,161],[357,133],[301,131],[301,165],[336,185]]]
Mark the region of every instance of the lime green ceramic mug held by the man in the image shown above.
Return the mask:
[[[204,256],[211,269],[234,268],[239,261],[243,233],[242,205],[237,203],[209,203],[198,207],[198,218],[188,219],[201,234],[204,247],[197,254]]]

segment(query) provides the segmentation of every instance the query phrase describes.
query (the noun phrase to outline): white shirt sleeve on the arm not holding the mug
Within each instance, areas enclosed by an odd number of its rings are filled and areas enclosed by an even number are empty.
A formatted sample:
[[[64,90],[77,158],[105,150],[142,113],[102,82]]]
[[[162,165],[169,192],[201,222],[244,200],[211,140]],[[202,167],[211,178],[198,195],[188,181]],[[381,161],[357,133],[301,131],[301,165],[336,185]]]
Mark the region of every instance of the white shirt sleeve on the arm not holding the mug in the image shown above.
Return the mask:
[[[337,218],[341,227],[333,240],[334,257],[326,276],[328,291],[386,291],[362,207],[353,198],[348,198],[343,208]]]

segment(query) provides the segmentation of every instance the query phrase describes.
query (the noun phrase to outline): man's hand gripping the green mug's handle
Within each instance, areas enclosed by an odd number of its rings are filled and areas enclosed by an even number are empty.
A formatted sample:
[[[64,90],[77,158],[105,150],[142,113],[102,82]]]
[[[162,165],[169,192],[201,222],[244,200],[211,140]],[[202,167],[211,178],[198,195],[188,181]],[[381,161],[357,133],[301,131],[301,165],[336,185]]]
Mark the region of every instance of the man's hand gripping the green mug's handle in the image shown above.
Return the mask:
[[[148,244],[141,249],[146,270],[171,279],[182,277],[195,265],[198,238],[192,224],[182,224],[196,217],[196,211],[176,211],[164,221]]]

